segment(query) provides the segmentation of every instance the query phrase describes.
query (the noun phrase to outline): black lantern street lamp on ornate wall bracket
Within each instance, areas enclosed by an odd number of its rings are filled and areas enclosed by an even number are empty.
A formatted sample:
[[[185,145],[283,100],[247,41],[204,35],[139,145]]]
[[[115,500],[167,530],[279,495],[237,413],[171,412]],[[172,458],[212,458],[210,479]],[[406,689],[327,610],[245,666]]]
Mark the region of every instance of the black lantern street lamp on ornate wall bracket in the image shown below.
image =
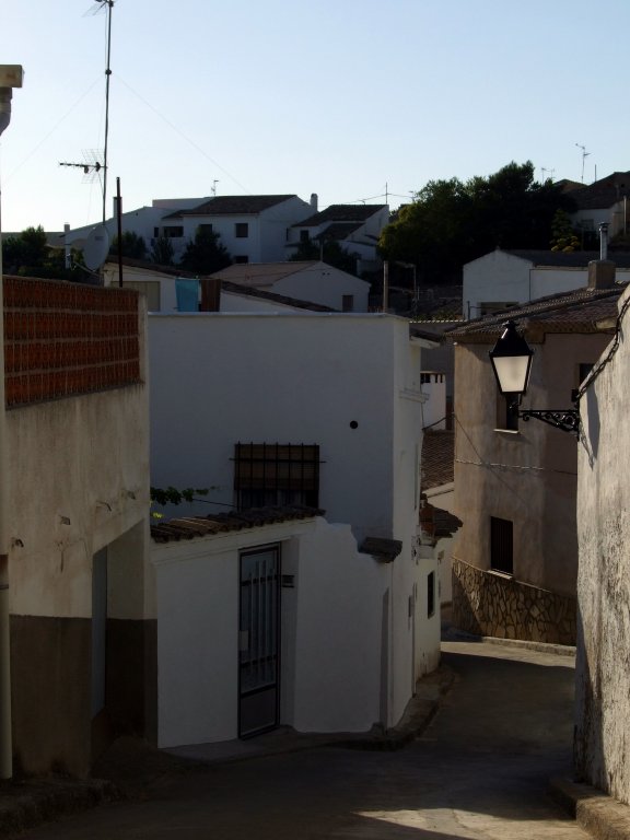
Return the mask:
[[[499,390],[508,400],[511,410],[523,420],[534,418],[563,432],[580,434],[580,411],[576,408],[524,409],[523,411],[518,408],[521,398],[527,390],[534,350],[516,331],[516,324],[513,320],[508,320],[503,327],[501,338],[490,350],[490,362]]]

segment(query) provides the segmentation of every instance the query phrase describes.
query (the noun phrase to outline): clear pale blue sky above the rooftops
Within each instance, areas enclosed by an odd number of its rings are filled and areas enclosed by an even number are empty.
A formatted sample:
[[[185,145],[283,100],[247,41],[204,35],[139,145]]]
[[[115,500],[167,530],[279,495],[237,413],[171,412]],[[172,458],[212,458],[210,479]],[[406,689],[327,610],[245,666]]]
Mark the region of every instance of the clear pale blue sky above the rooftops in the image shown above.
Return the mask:
[[[97,222],[106,10],[0,0],[20,63],[0,139],[2,230]],[[630,170],[630,0],[116,0],[109,175],[153,198],[298,194],[397,207],[433,178],[532,160],[591,183]]]

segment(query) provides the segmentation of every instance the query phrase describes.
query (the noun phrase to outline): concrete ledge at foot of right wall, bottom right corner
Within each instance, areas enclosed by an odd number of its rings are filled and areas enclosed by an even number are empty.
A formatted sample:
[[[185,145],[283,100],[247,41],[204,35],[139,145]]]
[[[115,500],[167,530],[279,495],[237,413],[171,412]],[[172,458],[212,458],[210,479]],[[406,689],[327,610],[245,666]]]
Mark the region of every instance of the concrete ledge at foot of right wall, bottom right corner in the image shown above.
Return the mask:
[[[551,796],[597,840],[630,838],[630,807],[590,784],[569,779],[551,779]]]

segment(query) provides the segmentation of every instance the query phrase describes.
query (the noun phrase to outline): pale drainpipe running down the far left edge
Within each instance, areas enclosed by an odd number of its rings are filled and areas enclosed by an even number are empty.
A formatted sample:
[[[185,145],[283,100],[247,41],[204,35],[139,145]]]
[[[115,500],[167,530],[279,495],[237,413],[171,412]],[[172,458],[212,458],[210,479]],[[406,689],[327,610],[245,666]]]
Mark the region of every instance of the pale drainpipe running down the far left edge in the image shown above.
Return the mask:
[[[22,86],[20,65],[0,65],[0,135],[11,121],[13,88]],[[1,203],[1,191],[0,191]],[[0,241],[2,220],[0,218]],[[9,477],[7,475],[7,402],[4,394],[4,283],[0,246],[0,778],[13,774],[11,733],[11,639],[9,623]]]

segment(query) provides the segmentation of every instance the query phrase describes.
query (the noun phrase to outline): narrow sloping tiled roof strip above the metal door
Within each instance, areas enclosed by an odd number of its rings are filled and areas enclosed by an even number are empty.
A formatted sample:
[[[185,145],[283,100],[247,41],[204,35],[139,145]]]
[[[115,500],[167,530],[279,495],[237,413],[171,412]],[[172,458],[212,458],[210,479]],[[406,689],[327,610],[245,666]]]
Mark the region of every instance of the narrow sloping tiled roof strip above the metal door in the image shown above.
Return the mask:
[[[324,513],[318,508],[250,508],[247,511],[230,511],[230,513],[210,514],[209,516],[155,520],[151,523],[151,536],[155,542],[172,542],[245,528],[259,528],[293,520],[311,520],[315,516],[323,516]]]

